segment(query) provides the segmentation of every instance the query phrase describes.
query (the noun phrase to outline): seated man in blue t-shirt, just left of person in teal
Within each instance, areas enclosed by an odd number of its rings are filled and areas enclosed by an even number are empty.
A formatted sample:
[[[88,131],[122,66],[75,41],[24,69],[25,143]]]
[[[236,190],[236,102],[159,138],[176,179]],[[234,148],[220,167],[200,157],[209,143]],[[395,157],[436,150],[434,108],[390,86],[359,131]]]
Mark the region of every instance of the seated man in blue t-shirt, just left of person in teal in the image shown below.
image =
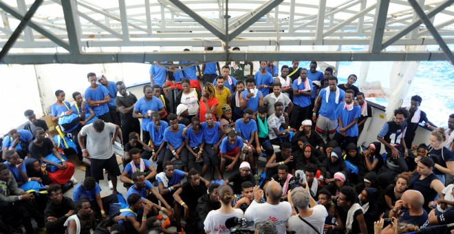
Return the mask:
[[[247,160],[250,165],[252,165],[252,174],[257,174],[257,160],[259,155],[256,152],[261,151],[259,144],[259,135],[257,134],[257,123],[255,120],[252,120],[252,109],[246,109],[243,114],[243,118],[240,118],[235,122],[235,129],[237,130],[237,135],[241,136],[243,140],[244,147],[241,148],[241,153],[247,155]],[[256,147],[254,147],[254,145]]]

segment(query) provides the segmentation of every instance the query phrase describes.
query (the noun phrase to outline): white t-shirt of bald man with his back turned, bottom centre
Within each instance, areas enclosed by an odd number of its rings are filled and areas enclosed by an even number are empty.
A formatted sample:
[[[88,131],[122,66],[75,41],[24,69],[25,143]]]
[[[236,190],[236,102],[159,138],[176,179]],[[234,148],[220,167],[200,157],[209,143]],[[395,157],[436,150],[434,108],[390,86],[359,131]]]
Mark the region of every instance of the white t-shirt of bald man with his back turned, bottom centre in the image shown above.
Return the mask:
[[[252,201],[250,206],[244,213],[244,217],[248,221],[255,223],[263,220],[274,222],[277,227],[277,233],[285,233],[287,220],[292,215],[292,207],[288,202],[280,202],[279,204],[269,204]]]

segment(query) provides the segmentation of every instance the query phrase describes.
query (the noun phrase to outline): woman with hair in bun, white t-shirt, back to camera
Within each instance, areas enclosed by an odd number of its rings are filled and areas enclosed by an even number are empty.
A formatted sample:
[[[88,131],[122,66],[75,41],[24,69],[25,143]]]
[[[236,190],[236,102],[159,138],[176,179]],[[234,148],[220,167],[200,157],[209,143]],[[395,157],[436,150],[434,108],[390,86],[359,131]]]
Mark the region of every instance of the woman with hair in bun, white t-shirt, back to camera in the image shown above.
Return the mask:
[[[230,233],[230,230],[226,227],[226,220],[229,217],[243,217],[243,211],[241,209],[234,209],[232,207],[233,201],[233,190],[230,186],[224,185],[217,189],[217,195],[221,201],[221,208],[210,211],[206,215],[204,222],[206,233]]]

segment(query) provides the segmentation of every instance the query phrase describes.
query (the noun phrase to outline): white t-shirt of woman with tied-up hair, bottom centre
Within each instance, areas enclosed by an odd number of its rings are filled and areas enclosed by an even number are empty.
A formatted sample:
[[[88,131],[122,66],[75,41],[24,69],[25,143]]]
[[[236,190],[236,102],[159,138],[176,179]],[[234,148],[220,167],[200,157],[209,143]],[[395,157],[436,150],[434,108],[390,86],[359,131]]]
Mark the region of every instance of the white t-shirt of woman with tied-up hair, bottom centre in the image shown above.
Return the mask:
[[[210,211],[206,215],[204,222],[205,231],[209,231],[210,233],[230,233],[230,230],[226,227],[226,220],[233,216],[243,217],[243,211],[241,209],[235,209],[230,214],[223,214],[219,210]]]

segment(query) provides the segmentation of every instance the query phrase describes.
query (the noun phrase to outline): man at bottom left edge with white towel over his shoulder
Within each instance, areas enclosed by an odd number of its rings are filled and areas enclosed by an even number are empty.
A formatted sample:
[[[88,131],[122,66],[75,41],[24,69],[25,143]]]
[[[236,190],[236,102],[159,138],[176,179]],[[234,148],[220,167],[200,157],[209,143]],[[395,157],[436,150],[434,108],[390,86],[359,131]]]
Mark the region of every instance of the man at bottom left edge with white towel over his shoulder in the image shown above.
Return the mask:
[[[74,206],[75,214],[67,218],[65,224],[67,234],[88,234],[96,229],[96,220],[89,200],[82,199]]]

